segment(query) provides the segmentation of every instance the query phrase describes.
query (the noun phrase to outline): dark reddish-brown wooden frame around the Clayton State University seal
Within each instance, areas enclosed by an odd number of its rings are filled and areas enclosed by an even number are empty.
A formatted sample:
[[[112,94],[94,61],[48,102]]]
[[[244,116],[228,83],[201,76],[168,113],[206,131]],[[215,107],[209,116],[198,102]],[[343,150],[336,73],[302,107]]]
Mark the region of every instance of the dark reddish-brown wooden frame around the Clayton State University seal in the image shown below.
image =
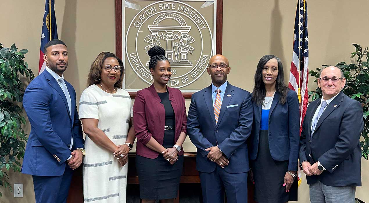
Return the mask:
[[[115,55],[123,59],[123,44],[122,44],[122,1],[115,0]],[[217,1],[217,19],[216,19],[216,47],[215,53],[222,54],[223,46],[223,0]],[[128,92],[131,98],[136,97],[137,92]],[[193,92],[183,92],[185,99],[190,99]]]

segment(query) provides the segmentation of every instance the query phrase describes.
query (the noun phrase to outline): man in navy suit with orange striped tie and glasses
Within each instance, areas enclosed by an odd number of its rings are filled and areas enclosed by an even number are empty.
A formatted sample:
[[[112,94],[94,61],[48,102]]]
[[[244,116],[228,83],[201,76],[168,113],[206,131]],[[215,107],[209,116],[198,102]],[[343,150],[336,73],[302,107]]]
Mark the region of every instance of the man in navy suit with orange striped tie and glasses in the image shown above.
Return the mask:
[[[212,84],[192,95],[187,132],[197,147],[204,203],[247,202],[249,171],[246,139],[251,133],[253,109],[248,91],[227,82],[228,59],[211,57],[207,68]]]

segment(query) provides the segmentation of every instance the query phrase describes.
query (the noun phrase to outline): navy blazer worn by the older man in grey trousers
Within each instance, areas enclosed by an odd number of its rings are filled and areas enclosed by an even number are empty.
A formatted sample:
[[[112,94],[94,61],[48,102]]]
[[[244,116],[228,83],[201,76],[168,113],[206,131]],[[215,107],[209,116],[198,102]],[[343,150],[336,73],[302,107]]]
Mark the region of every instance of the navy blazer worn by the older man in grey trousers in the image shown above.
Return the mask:
[[[300,162],[319,161],[326,169],[320,175],[306,176],[308,184],[318,180],[329,186],[361,186],[361,147],[363,109],[361,103],[342,91],[324,110],[311,137],[311,120],[321,103],[317,99],[306,110],[300,137]]]

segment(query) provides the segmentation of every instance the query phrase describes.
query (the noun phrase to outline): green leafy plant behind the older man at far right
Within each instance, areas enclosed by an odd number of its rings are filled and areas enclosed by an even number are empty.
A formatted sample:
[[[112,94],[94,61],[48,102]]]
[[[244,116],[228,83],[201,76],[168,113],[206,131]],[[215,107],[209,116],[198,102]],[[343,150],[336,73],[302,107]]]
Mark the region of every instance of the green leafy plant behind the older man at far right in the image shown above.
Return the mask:
[[[343,89],[344,93],[361,102],[363,106],[363,120],[364,120],[364,130],[361,133],[363,137],[362,141],[360,141],[361,146],[361,155],[366,160],[368,160],[368,147],[369,147],[369,52],[368,46],[365,49],[358,44],[352,44],[355,46],[355,52],[351,53],[351,58],[355,56],[358,57],[355,63],[346,64],[345,62],[337,63],[335,66],[339,67],[344,73],[344,77],[346,78],[346,85]],[[366,61],[365,61],[366,60]],[[328,65],[322,65],[323,67],[327,67]],[[321,69],[317,68],[315,70],[309,71],[310,76],[314,76],[316,78],[319,77],[319,71]],[[314,81],[317,82],[317,79]],[[315,99],[321,98],[322,93],[319,87],[315,91],[309,91],[309,98],[314,101]]]

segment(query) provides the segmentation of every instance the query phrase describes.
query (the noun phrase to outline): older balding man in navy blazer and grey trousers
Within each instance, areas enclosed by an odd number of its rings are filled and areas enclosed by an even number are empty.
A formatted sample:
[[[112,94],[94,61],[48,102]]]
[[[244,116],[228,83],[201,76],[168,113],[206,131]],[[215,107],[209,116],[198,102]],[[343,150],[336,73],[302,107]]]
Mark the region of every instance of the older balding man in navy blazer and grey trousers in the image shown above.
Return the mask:
[[[347,97],[346,79],[334,66],[321,70],[323,97],[308,106],[300,137],[300,162],[312,203],[354,203],[361,186],[361,103]]]

